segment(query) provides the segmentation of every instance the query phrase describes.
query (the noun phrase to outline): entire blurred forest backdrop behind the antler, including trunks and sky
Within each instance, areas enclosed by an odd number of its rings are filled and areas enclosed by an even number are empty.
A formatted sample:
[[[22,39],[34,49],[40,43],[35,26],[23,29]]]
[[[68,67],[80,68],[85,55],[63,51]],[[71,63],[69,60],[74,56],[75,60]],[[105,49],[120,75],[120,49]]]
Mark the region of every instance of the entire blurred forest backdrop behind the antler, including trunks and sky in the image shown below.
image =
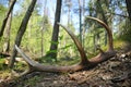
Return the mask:
[[[12,2],[14,7],[10,11]],[[34,8],[31,3],[33,4],[32,0],[0,1],[0,70],[2,73],[8,70],[8,66],[3,66],[4,55],[11,57],[13,61],[8,63],[10,67],[13,67],[14,58],[21,58],[14,45],[40,63],[69,65],[80,61],[73,40],[62,27],[57,25],[57,22],[76,35],[88,58],[98,53],[97,47],[107,50],[108,36],[102,25],[88,20],[87,16],[97,17],[111,28],[116,50],[128,51],[131,48],[127,47],[131,44],[130,0],[34,0]],[[28,17],[25,17],[26,14]],[[23,70],[21,62],[14,66],[17,67]]]

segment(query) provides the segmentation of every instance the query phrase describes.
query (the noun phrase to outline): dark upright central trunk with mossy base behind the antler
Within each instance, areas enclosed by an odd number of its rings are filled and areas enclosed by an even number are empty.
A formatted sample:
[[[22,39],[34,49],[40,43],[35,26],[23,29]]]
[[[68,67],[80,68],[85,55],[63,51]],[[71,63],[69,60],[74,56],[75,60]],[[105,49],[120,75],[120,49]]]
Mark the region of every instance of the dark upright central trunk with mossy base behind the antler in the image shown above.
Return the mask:
[[[60,22],[61,5],[62,5],[62,0],[57,0],[50,53],[47,54],[47,57],[49,55],[49,57],[53,58],[56,61],[57,61],[58,36],[59,36],[59,25],[57,23]],[[55,52],[51,52],[51,51],[55,51]]]

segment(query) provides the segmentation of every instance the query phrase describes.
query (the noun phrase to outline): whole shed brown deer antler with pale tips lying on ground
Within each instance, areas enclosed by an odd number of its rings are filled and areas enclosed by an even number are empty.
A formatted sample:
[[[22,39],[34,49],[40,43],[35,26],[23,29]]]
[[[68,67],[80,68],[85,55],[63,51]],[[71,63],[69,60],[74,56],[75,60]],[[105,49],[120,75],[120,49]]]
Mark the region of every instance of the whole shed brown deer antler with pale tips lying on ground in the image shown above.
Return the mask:
[[[58,23],[61,27],[63,27],[67,33],[71,36],[71,38],[73,39],[74,44],[76,45],[76,48],[81,54],[81,62],[79,64],[75,65],[71,65],[71,66],[52,66],[52,65],[43,65],[38,62],[35,62],[33,60],[31,60],[31,58],[28,58],[17,46],[15,46],[15,49],[22,54],[23,59],[28,63],[29,67],[32,69],[32,71],[43,71],[43,72],[75,72],[75,71],[80,71],[83,69],[91,69],[95,65],[97,65],[100,62],[104,62],[106,60],[108,60],[109,58],[114,57],[116,54],[116,52],[114,51],[114,44],[112,44],[112,34],[111,34],[111,29],[100,20],[95,18],[95,17],[91,17],[88,16],[87,18],[97,21],[98,23],[100,23],[105,29],[107,30],[108,34],[108,38],[109,38],[109,49],[104,52],[100,48],[100,53],[90,60],[86,59],[86,54],[84,52],[84,49],[82,48],[81,42],[79,41],[79,39],[75,37],[75,35],[68,29],[67,27],[64,27],[63,25],[61,25],[60,23]]]

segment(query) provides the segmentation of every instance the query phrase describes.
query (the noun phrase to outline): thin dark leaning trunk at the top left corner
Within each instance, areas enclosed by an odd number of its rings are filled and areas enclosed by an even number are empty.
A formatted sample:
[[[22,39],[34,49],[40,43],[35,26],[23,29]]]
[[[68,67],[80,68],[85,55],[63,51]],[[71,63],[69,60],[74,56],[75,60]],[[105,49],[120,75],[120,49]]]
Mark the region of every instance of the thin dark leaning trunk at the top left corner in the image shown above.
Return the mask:
[[[1,26],[1,29],[0,29],[0,37],[3,36],[3,32],[4,32],[4,28],[5,28],[5,24],[8,22],[8,17],[10,15],[10,13],[12,12],[15,2],[16,2],[16,0],[11,1],[11,5],[9,8],[9,11],[7,12],[7,15],[5,15],[4,20],[3,20],[3,23],[2,23],[2,26]]]

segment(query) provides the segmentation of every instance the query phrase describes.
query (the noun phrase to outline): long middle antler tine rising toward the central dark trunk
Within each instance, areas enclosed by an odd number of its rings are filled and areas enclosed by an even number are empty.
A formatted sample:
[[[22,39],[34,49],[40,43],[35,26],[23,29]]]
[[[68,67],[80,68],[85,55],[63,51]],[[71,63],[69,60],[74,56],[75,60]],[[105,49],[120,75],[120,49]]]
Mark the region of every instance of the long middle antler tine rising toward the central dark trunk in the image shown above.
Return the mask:
[[[88,62],[88,60],[87,60],[87,57],[86,57],[86,54],[85,54],[85,51],[84,51],[84,49],[83,49],[83,47],[82,47],[82,44],[80,42],[80,40],[75,37],[75,35],[70,30],[70,29],[68,29],[66,26],[63,26],[62,24],[60,24],[60,23],[57,23],[58,25],[60,25],[61,27],[63,27],[64,28],[64,30],[71,36],[71,38],[73,39],[73,41],[74,41],[74,44],[76,45],[76,48],[78,48],[78,50],[79,50],[79,52],[80,52],[80,54],[81,54],[81,63],[87,63]]]

